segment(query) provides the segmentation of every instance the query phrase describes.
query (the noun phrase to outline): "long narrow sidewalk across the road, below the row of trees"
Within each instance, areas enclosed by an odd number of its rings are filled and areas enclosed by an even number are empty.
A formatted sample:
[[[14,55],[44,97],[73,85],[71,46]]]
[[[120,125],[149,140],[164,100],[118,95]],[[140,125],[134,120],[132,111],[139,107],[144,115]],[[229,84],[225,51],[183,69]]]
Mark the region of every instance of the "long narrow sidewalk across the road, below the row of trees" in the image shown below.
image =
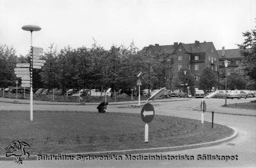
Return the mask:
[[[190,101],[191,99],[185,98],[185,99],[180,99],[180,98],[171,98],[171,99],[157,99],[154,102],[169,102],[169,101]],[[16,99],[11,99],[11,98],[3,98],[0,97],[0,102],[8,102],[8,103],[15,103],[16,104]],[[18,102],[20,104],[30,104],[29,100],[24,100],[24,99],[18,99]],[[144,104],[146,101],[140,101],[142,104]],[[33,104],[47,104],[47,105],[98,105],[99,102],[53,102],[53,101],[33,101]],[[138,104],[138,101],[120,101],[120,102],[115,102],[111,101],[109,102],[110,105],[122,105],[122,104]]]

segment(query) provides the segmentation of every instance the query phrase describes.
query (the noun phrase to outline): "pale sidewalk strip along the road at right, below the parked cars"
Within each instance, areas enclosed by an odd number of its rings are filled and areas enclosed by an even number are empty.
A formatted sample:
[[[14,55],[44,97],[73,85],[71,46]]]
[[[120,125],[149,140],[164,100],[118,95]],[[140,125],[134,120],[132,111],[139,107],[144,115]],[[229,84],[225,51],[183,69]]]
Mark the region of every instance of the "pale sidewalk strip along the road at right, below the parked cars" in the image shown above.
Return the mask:
[[[228,104],[227,104],[228,106]],[[214,113],[221,113],[221,114],[228,114],[228,115],[242,115],[242,116],[256,116],[256,111],[253,109],[242,109],[242,108],[227,108],[220,105],[206,106],[205,112],[212,112]],[[195,106],[193,109],[201,111],[200,106]]]

